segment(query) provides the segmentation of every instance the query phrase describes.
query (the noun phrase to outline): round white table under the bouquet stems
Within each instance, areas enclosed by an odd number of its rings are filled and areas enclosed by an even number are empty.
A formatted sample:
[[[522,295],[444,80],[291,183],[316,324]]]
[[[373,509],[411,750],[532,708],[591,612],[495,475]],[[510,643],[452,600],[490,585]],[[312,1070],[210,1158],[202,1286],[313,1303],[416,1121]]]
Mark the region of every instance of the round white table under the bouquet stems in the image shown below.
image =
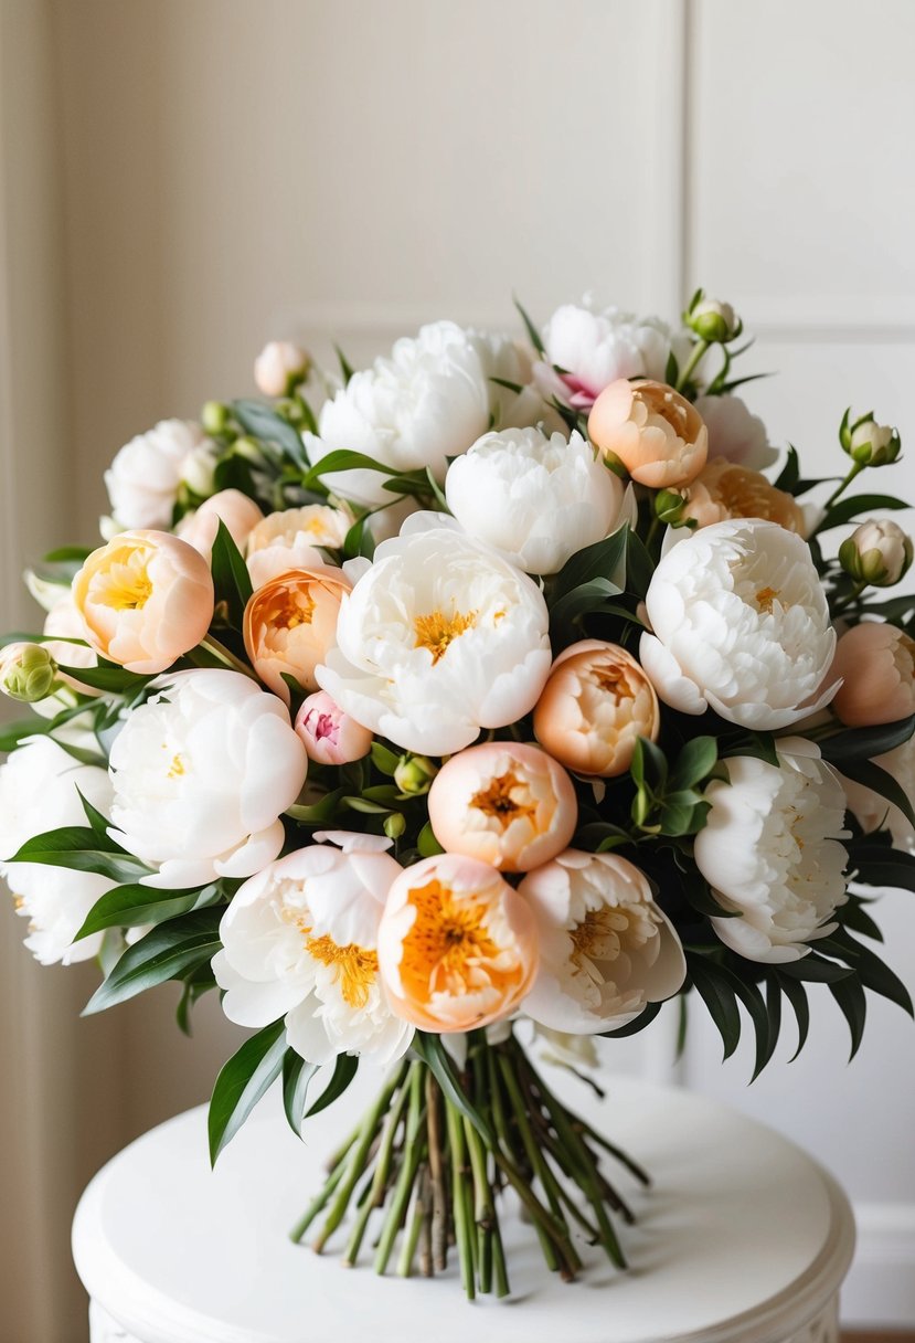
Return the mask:
[[[553,1073],[553,1069],[550,1069]],[[845,1195],[771,1129],[702,1096],[614,1078],[590,1099],[557,1084],[648,1167],[621,1228],[627,1273],[581,1248],[563,1284],[530,1226],[503,1233],[513,1296],[468,1304],[456,1268],[376,1277],[288,1240],[326,1152],[377,1086],[365,1069],[335,1105],[286,1127],[271,1093],[211,1172],[205,1109],[131,1143],[99,1171],[74,1222],[93,1343],[835,1343],[855,1230]]]

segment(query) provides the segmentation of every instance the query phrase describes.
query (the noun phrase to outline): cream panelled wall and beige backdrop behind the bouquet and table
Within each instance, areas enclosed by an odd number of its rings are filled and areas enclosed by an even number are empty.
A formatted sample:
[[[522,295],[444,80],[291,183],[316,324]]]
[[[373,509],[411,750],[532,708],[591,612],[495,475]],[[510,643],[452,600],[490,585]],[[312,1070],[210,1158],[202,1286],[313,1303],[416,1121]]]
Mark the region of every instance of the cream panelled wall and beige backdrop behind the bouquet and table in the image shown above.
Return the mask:
[[[855,399],[911,442],[914,48],[908,0],[0,0],[0,624],[28,557],[94,539],[119,445],[251,391],[267,337],[361,361],[427,318],[511,322],[513,290],[674,316],[702,282],[782,371],[750,393],[777,441],[835,470]],[[883,920],[915,983],[910,904]],[[93,971],[19,935],[4,911],[0,1340],[71,1343],[79,1187],[205,1099],[231,1031],[209,1002],[184,1039],[170,987],[79,1021]],[[849,1317],[911,1323],[911,1023],[876,1005],[844,1069],[816,1009],[749,1092],[699,1013],[679,1072],[663,1027],[609,1061],[816,1148],[859,1210]]]

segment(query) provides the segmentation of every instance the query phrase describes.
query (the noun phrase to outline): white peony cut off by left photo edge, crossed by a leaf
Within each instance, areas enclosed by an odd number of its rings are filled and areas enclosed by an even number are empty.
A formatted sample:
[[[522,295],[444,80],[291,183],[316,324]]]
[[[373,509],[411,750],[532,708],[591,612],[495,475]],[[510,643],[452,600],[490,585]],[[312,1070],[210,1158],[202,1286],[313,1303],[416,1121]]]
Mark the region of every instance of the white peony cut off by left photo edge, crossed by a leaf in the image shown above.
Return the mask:
[[[79,791],[76,791],[79,790]],[[79,764],[51,737],[31,737],[0,766],[0,858],[11,858],[27,839],[62,826],[86,826],[79,792],[107,813],[111,784],[105,770]],[[91,872],[38,862],[1,862],[0,876],[30,920],[25,945],[43,966],[64,966],[95,956],[102,935],[74,937],[90,909],[113,882]]]

